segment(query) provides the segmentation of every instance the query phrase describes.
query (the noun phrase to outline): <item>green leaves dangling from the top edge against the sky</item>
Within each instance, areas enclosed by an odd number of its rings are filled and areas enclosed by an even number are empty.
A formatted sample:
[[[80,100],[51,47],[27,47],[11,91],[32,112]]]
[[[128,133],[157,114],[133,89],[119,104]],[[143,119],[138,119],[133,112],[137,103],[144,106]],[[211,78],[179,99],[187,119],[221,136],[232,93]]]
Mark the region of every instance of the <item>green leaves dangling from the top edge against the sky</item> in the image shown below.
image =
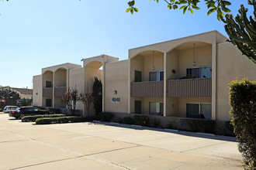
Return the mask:
[[[159,0],[154,0],[157,3]],[[193,9],[199,10],[198,4],[200,3],[199,0],[163,0],[167,3],[167,6],[169,9],[182,9],[183,13],[189,11],[191,13],[194,13]],[[227,8],[228,5],[231,5],[229,1],[225,0],[205,0],[206,6],[209,9],[207,12],[207,15],[216,12],[217,13],[217,19],[220,21],[220,17],[224,15],[224,12],[231,12],[229,8]],[[139,9],[136,8],[135,0],[132,0],[128,2],[129,8],[126,9],[126,12],[130,12],[133,14],[133,12],[138,12]]]

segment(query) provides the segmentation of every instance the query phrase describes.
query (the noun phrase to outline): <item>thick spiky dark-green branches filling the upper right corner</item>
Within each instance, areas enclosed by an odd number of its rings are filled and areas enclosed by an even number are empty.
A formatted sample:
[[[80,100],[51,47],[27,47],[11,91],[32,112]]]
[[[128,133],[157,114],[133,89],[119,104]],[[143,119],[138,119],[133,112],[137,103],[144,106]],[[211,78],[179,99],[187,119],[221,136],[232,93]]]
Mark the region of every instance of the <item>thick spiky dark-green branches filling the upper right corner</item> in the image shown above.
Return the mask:
[[[256,63],[256,2],[249,0],[249,5],[254,6],[254,17],[247,18],[247,8],[240,5],[239,14],[233,19],[233,15],[227,14],[226,19],[221,17],[226,23],[225,30],[230,37],[230,42],[237,46],[240,51]]]

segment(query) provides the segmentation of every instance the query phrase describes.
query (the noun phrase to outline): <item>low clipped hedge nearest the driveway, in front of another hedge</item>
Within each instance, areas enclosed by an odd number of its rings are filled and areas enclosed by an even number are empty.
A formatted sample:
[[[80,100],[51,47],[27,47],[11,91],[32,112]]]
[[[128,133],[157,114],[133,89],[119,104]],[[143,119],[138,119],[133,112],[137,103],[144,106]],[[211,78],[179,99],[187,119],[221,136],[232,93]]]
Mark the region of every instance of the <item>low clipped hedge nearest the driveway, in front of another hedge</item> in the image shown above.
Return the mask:
[[[36,124],[63,124],[63,123],[72,123],[72,122],[85,122],[86,117],[43,117],[36,119]]]

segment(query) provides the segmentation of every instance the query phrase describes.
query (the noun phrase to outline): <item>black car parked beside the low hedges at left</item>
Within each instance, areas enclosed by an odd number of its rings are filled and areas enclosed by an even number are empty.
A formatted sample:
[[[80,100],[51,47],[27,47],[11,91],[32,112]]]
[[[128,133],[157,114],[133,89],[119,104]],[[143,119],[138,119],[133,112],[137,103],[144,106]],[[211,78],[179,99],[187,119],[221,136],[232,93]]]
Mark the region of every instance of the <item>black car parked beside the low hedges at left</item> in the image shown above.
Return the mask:
[[[9,117],[16,117],[22,118],[27,115],[38,115],[38,114],[49,114],[49,111],[47,110],[40,110],[36,107],[19,107],[16,108],[16,110],[13,110],[12,112],[9,112]]]

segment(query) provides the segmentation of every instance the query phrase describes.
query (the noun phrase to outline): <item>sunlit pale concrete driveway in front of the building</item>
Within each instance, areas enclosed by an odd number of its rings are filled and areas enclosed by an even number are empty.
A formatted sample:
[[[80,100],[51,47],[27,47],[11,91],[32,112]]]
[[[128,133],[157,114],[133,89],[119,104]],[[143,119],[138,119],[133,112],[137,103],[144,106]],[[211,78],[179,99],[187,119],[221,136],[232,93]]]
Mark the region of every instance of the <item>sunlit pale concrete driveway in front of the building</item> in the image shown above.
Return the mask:
[[[243,169],[235,138],[0,114],[0,169]]]

